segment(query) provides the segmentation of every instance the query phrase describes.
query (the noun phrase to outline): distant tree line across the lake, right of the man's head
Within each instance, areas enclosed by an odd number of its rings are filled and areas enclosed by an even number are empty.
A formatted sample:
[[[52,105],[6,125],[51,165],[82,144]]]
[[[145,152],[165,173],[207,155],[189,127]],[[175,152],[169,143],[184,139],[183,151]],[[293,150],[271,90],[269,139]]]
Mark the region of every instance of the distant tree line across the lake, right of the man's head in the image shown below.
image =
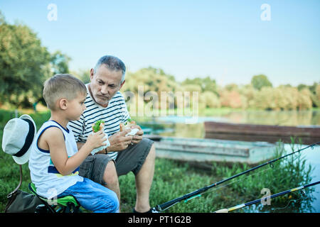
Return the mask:
[[[219,86],[210,77],[196,77],[176,82],[175,77],[161,69],[148,67],[137,72],[128,72],[123,91],[138,93],[139,86],[144,86],[144,93],[156,92],[198,92],[200,108],[230,107],[238,109],[262,110],[306,110],[320,107],[320,84],[309,86],[290,84],[273,87],[264,74],[255,75],[250,84],[228,84]]]

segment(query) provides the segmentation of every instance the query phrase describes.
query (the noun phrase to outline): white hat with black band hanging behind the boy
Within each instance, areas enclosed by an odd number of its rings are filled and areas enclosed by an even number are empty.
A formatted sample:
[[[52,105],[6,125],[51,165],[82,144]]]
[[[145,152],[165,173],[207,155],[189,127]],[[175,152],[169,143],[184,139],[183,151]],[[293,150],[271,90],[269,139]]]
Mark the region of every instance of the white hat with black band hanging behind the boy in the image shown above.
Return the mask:
[[[2,150],[12,155],[16,163],[23,165],[29,160],[31,145],[36,138],[36,130],[36,123],[27,114],[11,119],[4,127]]]

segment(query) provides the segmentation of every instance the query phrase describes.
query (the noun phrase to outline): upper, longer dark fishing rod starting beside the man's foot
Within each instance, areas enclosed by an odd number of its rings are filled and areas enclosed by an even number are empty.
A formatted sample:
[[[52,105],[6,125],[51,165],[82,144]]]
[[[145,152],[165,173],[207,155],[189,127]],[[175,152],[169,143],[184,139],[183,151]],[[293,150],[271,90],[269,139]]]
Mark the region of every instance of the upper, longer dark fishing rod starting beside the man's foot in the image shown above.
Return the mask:
[[[190,192],[190,193],[188,193],[188,194],[184,194],[183,196],[180,196],[180,197],[178,197],[178,198],[176,198],[176,199],[172,199],[172,200],[170,200],[170,201],[167,201],[167,202],[165,202],[164,204],[156,205],[156,206],[154,206],[154,209],[155,209],[156,211],[159,211],[159,212],[165,211],[166,209],[169,209],[171,206],[174,206],[175,204],[177,204],[177,203],[180,202],[180,201],[183,201],[183,200],[184,200],[184,201],[188,201],[188,200],[190,200],[190,199],[195,198],[196,196],[201,196],[201,194],[203,194],[203,192],[208,191],[208,189],[211,189],[211,188],[213,188],[213,187],[216,187],[216,186],[218,186],[219,184],[223,184],[224,182],[228,182],[229,180],[234,179],[235,177],[240,177],[241,175],[245,175],[246,173],[251,172],[251,171],[253,171],[253,170],[257,170],[257,169],[259,169],[259,168],[261,168],[261,167],[264,167],[265,165],[270,165],[270,166],[272,167],[272,163],[273,163],[273,162],[277,162],[278,160],[281,160],[282,158],[287,157],[287,156],[289,156],[289,155],[293,155],[293,154],[295,154],[295,153],[299,153],[300,151],[305,150],[306,148],[310,148],[310,147],[313,148],[315,145],[318,145],[319,143],[320,143],[320,142],[311,144],[311,145],[309,145],[309,146],[307,146],[307,147],[305,147],[305,148],[302,148],[302,149],[293,151],[292,153],[289,153],[289,154],[287,154],[287,155],[283,155],[283,156],[281,156],[281,157],[277,157],[277,158],[275,158],[274,160],[267,161],[267,162],[265,162],[265,163],[262,163],[261,165],[257,165],[256,167],[252,167],[250,170],[245,170],[245,171],[243,171],[243,172],[238,173],[237,175],[233,175],[232,177],[228,177],[228,178],[226,178],[226,179],[223,179],[223,180],[221,180],[220,182],[216,182],[216,183],[214,183],[214,184],[210,184],[210,185],[208,185],[208,186],[206,186],[206,187],[203,187],[203,188],[201,188],[201,189],[198,189],[198,190],[196,190],[196,191],[194,191],[194,192]]]

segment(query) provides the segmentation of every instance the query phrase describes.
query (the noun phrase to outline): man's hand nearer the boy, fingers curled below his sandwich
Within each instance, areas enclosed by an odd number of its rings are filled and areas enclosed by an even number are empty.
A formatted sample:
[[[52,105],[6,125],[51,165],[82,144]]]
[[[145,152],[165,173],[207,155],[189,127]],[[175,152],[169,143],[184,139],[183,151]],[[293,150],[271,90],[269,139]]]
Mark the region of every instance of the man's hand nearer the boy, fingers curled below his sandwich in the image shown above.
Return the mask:
[[[110,146],[107,147],[108,153],[126,149],[132,143],[132,135],[126,136],[130,131],[131,129],[128,128],[122,132],[114,133],[113,135],[111,135],[108,138],[110,142]]]

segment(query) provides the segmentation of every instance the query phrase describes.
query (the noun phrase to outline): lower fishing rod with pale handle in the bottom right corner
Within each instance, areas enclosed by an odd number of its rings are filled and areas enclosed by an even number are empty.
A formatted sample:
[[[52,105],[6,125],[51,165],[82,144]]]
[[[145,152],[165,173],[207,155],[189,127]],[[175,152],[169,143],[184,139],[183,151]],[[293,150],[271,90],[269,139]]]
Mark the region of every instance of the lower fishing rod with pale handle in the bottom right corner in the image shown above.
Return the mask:
[[[245,206],[251,206],[252,204],[257,204],[259,202],[262,202],[262,201],[265,201],[266,199],[273,199],[277,196],[282,196],[284,194],[289,194],[291,192],[295,192],[297,190],[302,190],[302,189],[306,189],[307,187],[311,187],[311,186],[314,186],[316,184],[320,184],[320,181],[319,182],[314,182],[314,183],[311,183],[311,184],[306,184],[306,185],[303,185],[303,186],[300,186],[300,187],[295,187],[294,189],[289,189],[289,190],[286,190],[286,191],[283,191],[283,192],[279,192],[277,194],[272,194],[270,196],[265,196],[265,197],[262,197],[261,199],[255,199],[255,200],[252,200],[252,201],[249,201],[245,204],[239,204],[237,206],[233,206],[233,207],[230,207],[230,208],[227,208],[227,209],[220,209],[218,211],[215,211],[214,213],[228,213],[229,211],[235,211],[235,210],[238,210],[238,209],[241,209]],[[304,195],[304,192],[303,194]]]

